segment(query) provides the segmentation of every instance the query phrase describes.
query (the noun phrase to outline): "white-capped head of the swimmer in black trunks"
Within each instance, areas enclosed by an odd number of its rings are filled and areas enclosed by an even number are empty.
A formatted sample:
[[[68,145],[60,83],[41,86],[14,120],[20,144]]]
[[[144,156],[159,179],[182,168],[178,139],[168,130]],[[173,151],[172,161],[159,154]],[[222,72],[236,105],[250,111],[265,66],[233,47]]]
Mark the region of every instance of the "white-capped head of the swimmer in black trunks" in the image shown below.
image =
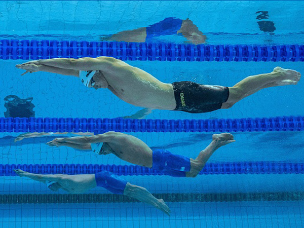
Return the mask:
[[[100,88],[106,89],[108,87],[107,81],[99,70],[81,70],[79,77],[82,84],[84,84],[86,87],[94,88],[96,90]]]

